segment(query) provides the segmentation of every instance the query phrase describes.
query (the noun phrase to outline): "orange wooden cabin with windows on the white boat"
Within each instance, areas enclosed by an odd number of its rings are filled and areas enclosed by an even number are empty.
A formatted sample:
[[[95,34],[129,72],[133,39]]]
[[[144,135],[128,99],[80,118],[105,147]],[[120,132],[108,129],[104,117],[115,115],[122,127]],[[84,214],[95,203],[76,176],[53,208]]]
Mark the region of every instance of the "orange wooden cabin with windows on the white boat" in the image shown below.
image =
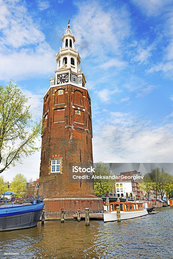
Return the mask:
[[[146,204],[132,202],[111,202],[109,204],[109,211],[116,211],[117,207],[120,208],[120,211],[142,211],[146,209]]]

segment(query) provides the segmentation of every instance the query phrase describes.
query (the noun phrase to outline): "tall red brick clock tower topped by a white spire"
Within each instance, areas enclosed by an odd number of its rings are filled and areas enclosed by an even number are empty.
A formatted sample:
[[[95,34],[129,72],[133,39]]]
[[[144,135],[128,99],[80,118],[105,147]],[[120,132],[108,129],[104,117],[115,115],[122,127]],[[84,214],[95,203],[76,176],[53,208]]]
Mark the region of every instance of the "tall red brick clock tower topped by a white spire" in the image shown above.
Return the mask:
[[[72,218],[79,207],[92,213],[103,209],[102,199],[94,196],[93,182],[70,183],[69,163],[91,167],[92,121],[91,98],[80,73],[80,55],[75,38],[68,29],[62,37],[62,48],[56,54],[57,70],[44,97],[42,150],[39,194],[45,197],[45,216]]]

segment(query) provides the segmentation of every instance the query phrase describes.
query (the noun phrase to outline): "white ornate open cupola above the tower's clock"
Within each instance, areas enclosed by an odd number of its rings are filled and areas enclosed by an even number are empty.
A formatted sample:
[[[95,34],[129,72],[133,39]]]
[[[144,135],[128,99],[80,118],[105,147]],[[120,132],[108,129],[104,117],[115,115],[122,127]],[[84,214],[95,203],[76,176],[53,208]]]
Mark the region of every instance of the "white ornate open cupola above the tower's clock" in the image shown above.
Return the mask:
[[[70,30],[70,24],[68,29],[62,37],[62,48],[60,47],[59,52],[56,55],[57,71],[61,68],[71,68],[71,71],[79,73],[79,64],[81,62],[80,55],[75,49],[75,37]]]

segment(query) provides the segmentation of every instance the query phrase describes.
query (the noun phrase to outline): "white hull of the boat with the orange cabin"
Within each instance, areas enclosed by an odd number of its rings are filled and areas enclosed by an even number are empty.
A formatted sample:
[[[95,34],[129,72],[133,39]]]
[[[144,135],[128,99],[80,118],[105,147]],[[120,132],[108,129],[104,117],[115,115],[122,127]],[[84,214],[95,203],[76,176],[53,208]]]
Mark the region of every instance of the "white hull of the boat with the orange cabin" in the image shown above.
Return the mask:
[[[120,217],[121,220],[125,219],[134,219],[138,217],[142,217],[148,215],[147,210],[145,211],[133,211],[132,212],[126,212],[126,211],[120,211]],[[103,214],[104,222],[109,222],[109,221],[117,221],[117,212],[111,212],[111,213],[104,213]]]

